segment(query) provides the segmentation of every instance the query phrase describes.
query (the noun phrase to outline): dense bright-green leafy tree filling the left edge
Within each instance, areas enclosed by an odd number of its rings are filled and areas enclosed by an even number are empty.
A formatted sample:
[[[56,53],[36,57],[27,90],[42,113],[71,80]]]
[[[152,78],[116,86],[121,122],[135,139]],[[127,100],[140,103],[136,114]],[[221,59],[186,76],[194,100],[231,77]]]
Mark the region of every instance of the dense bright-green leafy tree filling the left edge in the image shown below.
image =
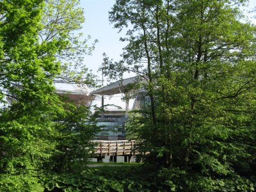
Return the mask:
[[[60,67],[52,54],[38,54],[42,1],[2,1],[0,7],[0,188],[39,191],[38,170],[54,147],[47,138],[56,111],[52,81]],[[4,95],[12,106],[3,106]]]

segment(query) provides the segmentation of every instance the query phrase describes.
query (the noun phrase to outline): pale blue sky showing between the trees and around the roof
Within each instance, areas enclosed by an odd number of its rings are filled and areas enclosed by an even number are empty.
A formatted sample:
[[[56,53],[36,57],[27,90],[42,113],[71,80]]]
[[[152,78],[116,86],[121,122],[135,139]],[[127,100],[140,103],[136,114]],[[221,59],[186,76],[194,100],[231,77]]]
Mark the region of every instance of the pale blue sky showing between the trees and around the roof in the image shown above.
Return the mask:
[[[88,45],[92,44],[93,40],[98,40],[99,42],[95,45],[95,50],[92,52],[91,56],[85,56],[84,65],[86,65],[93,74],[101,77],[101,73],[98,72],[99,67],[103,63],[102,54],[106,52],[109,58],[113,58],[114,61],[120,59],[120,54],[122,54],[122,48],[125,46],[125,42],[120,42],[121,36],[125,33],[118,33],[118,29],[113,28],[113,24],[109,23],[108,12],[111,10],[115,0],[80,0],[81,8],[84,10],[84,17],[86,18],[81,32],[84,36],[91,36],[91,40]],[[252,10],[256,7],[256,0],[250,0],[248,3],[248,10]],[[256,15],[256,13],[255,13]],[[248,14],[248,17],[252,15]],[[254,23],[255,20],[253,20]],[[127,74],[125,77],[132,77],[134,75]],[[107,84],[105,81],[104,84]],[[62,87],[65,89],[65,87]],[[70,88],[68,88],[70,89]],[[116,95],[111,100],[106,97],[105,103],[118,103],[119,106],[125,108],[124,102],[121,102],[120,97],[122,95]],[[100,105],[100,101],[96,101],[94,104]],[[132,100],[130,101],[130,108],[132,106]]]

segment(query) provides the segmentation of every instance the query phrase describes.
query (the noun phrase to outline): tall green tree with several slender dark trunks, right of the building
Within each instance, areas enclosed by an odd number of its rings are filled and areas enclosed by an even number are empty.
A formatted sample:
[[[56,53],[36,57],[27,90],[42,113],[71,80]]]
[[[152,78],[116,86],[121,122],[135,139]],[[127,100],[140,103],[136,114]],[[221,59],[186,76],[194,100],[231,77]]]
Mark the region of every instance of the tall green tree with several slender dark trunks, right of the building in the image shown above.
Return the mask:
[[[133,132],[146,161],[182,170],[186,190],[253,189],[244,175],[255,169],[255,34],[239,21],[240,3],[120,0],[109,12],[129,44],[122,61],[106,58],[107,74],[145,79],[150,111]]]

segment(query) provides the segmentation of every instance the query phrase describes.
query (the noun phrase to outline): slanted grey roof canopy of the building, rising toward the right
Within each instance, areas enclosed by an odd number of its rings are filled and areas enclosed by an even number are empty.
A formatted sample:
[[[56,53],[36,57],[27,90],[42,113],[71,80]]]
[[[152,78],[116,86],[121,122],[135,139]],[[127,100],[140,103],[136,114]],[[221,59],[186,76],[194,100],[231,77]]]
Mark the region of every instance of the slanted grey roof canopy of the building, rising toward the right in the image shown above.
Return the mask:
[[[126,86],[130,83],[135,83],[138,81],[138,77],[130,77],[123,80],[118,80],[114,83],[108,84],[102,88],[94,90],[90,95],[115,95],[119,93],[124,93]]]

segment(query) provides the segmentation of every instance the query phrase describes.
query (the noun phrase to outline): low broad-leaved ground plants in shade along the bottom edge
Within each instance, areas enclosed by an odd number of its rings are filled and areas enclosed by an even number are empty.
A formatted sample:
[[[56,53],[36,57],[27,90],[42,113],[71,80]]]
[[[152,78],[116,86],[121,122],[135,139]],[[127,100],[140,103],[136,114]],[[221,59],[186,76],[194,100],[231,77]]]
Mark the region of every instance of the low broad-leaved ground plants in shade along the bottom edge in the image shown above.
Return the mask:
[[[177,168],[157,170],[154,165],[100,166],[88,168],[81,175],[51,175],[45,179],[46,191],[254,191],[254,188],[255,183],[238,175],[214,180],[187,175]]]

